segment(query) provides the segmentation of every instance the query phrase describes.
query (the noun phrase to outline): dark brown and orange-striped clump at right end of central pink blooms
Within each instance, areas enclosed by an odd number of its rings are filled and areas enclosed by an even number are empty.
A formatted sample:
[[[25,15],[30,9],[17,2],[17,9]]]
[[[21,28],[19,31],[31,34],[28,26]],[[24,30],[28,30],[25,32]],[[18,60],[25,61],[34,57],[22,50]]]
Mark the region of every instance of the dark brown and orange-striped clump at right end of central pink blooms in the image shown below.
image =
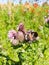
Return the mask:
[[[27,34],[25,35],[25,40],[29,42],[33,42],[36,40],[37,37],[38,37],[37,32],[28,31]]]

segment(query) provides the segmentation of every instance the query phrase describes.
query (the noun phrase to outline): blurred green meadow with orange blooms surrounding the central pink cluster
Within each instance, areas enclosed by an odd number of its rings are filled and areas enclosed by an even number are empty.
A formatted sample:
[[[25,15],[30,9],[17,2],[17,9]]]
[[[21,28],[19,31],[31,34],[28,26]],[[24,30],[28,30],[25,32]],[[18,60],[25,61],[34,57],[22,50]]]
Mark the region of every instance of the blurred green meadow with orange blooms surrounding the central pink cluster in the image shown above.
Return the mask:
[[[44,24],[48,10],[48,5],[37,3],[0,5],[0,65],[49,65],[49,28]],[[17,30],[21,21],[27,30],[38,32],[38,41],[17,46],[10,43],[8,31]]]

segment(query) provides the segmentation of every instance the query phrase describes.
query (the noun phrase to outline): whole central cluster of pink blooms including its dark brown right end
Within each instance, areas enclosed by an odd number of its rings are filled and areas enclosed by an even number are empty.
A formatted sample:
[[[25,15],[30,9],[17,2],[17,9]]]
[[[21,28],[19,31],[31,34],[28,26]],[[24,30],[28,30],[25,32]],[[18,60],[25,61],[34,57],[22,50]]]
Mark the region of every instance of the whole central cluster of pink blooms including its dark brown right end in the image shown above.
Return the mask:
[[[10,30],[8,32],[8,38],[14,46],[18,45],[19,42],[23,41],[33,42],[36,40],[37,37],[38,33],[32,30],[26,31],[23,23],[20,23],[18,25],[17,32],[15,30]]]

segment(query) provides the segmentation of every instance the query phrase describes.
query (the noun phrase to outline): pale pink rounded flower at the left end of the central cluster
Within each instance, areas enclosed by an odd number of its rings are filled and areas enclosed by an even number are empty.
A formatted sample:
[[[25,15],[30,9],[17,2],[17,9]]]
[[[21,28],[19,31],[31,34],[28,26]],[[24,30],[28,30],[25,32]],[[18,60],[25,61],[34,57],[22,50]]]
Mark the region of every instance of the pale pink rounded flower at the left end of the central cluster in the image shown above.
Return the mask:
[[[17,45],[18,44],[18,39],[17,39],[17,32],[15,30],[10,30],[8,32],[8,38],[10,40],[10,42],[13,44],[13,45]]]

